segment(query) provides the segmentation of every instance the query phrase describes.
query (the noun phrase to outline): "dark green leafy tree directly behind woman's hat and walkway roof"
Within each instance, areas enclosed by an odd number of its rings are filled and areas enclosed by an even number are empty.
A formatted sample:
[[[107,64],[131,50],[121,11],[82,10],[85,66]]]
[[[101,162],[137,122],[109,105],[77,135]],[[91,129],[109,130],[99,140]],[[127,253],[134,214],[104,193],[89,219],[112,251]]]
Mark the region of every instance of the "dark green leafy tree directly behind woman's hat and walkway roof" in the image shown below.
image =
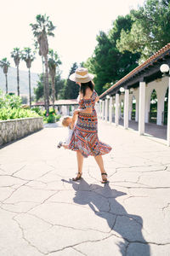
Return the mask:
[[[129,51],[122,53],[116,48],[116,41],[120,38],[122,28],[127,31],[132,24],[130,15],[118,16],[108,35],[99,32],[96,38],[98,44],[85,66],[88,67],[89,72],[95,74],[95,90],[99,94],[138,66],[139,53],[132,54]]]

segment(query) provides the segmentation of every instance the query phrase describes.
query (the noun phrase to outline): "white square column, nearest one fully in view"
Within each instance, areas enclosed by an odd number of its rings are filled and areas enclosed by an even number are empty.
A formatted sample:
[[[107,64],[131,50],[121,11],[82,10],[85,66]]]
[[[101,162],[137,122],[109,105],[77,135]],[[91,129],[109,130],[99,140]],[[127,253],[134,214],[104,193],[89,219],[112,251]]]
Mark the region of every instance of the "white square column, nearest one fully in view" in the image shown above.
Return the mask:
[[[144,134],[145,82],[139,83],[139,135]]]

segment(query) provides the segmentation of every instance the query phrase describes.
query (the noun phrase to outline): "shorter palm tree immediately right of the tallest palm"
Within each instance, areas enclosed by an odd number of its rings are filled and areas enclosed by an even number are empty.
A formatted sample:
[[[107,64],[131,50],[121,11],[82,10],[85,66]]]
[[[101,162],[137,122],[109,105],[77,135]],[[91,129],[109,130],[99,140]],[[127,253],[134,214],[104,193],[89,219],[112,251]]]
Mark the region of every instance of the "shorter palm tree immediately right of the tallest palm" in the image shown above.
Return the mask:
[[[53,49],[49,49],[50,58],[48,59],[48,67],[49,67],[49,74],[51,76],[51,84],[52,84],[52,98],[53,98],[53,108],[54,108],[54,101],[55,101],[55,75],[56,75],[56,67],[61,64],[59,60],[59,56],[57,52]]]

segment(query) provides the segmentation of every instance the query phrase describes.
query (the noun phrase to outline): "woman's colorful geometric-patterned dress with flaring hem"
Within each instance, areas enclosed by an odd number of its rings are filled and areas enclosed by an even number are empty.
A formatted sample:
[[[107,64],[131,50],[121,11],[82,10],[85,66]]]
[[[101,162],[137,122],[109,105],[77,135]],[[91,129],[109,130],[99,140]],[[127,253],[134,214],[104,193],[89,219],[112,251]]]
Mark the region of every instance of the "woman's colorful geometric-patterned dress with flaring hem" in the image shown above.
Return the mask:
[[[98,138],[98,118],[94,108],[97,96],[98,94],[94,90],[90,99],[79,101],[79,108],[93,108],[93,113],[78,113],[77,125],[68,146],[71,150],[80,150],[84,157],[108,154],[111,151],[111,147],[100,142]]]

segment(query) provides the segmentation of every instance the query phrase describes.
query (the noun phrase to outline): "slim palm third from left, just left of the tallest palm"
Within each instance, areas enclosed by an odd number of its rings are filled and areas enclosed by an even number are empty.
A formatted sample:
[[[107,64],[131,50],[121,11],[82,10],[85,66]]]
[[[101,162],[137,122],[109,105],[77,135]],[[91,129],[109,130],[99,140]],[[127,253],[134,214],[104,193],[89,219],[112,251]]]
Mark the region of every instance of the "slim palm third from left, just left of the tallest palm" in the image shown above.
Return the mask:
[[[31,62],[35,59],[35,54],[31,53],[31,48],[25,48],[22,50],[21,59],[26,61],[26,67],[28,68],[28,79],[29,79],[29,97],[30,97],[30,108],[31,108]]]

